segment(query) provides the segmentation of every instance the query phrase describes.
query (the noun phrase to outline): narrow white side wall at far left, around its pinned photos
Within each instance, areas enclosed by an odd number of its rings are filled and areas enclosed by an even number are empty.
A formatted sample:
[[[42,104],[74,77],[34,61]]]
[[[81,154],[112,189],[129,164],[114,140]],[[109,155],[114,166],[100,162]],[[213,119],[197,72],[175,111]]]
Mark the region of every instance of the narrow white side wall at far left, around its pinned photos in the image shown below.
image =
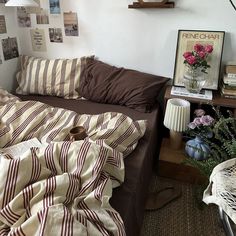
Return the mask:
[[[14,14],[15,10],[13,8],[7,8],[4,4],[0,4],[0,15],[5,16],[7,33],[0,34],[0,56],[3,61],[3,64],[0,64],[0,87],[3,87],[9,91],[12,90],[15,74],[17,71],[18,58],[14,58],[11,60],[4,61],[3,53],[2,53],[2,39],[6,39],[8,37],[17,37],[17,26],[16,26],[16,17]],[[17,37],[17,43],[20,51],[19,39]]]

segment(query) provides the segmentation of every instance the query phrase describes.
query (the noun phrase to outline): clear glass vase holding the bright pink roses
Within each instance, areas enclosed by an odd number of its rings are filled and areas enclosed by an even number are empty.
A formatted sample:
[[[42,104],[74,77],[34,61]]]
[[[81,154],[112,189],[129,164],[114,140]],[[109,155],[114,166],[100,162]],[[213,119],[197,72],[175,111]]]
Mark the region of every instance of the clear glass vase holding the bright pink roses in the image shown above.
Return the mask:
[[[190,93],[200,93],[206,82],[205,73],[199,68],[189,68],[184,73],[183,82]]]

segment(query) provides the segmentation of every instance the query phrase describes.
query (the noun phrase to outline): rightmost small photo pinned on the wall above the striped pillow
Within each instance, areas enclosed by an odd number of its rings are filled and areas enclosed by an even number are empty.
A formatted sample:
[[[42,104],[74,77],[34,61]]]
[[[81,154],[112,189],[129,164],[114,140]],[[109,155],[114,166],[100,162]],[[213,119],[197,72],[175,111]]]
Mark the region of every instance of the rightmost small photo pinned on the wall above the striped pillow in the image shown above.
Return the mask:
[[[66,36],[79,36],[77,13],[64,12],[64,26]]]

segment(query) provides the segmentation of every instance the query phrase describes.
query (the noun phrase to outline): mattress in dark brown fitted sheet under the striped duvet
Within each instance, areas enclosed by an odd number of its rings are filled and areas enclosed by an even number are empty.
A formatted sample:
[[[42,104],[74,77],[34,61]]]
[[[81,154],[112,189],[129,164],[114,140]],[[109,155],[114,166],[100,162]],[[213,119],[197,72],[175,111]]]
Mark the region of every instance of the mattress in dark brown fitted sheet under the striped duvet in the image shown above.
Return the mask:
[[[115,188],[111,205],[121,215],[128,236],[140,233],[144,215],[145,200],[151,179],[153,158],[157,158],[158,106],[151,113],[111,104],[94,103],[88,100],[65,100],[49,96],[19,96],[22,100],[36,100],[51,106],[73,110],[79,114],[99,114],[108,111],[120,112],[134,120],[147,120],[147,130],[135,151],[125,158],[125,181]]]

